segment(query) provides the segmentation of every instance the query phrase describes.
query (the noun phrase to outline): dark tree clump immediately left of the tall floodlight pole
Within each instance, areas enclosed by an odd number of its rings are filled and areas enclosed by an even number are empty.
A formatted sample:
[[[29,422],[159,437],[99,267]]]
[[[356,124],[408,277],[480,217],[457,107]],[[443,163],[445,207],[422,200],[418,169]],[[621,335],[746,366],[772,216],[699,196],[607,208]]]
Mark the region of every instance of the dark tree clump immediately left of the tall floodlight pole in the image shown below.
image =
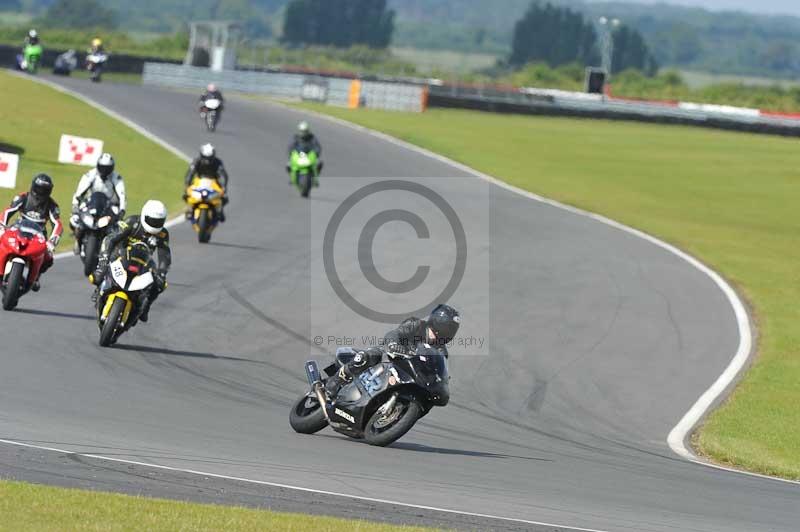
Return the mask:
[[[509,63],[521,66],[542,61],[559,66],[597,59],[595,31],[583,16],[568,8],[534,0],[514,26]]]

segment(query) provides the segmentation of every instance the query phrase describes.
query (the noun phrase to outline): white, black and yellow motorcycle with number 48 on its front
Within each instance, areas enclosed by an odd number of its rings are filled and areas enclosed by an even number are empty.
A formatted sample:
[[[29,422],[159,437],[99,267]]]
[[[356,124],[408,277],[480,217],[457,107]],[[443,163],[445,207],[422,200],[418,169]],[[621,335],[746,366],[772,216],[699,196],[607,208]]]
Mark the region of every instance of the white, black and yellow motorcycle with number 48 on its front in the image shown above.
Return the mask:
[[[97,298],[102,347],[116,343],[122,333],[136,325],[154,282],[150,249],[143,242],[128,246],[108,265]]]

